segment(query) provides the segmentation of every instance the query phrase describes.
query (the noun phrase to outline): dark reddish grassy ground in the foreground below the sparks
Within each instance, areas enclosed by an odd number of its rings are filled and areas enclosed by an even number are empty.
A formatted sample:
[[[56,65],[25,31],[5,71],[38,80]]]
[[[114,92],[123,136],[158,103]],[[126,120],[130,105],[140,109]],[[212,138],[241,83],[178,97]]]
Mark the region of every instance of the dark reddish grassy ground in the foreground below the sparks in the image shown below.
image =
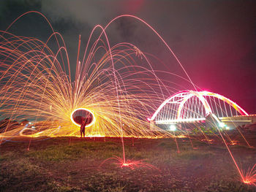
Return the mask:
[[[254,135],[246,137],[255,143]],[[192,139],[194,149],[187,138],[177,141],[180,153],[171,138],[124,138],[126,158],[143,160],[134,167],[113,158],[122,157],[120,138],[47,138],[29,150],[28,139],[4,142],[0,191],[256,191],[241,182],[220,139],[211,145]],[[242,169],[255,164],[255,148],[241,142],[230,149]]]

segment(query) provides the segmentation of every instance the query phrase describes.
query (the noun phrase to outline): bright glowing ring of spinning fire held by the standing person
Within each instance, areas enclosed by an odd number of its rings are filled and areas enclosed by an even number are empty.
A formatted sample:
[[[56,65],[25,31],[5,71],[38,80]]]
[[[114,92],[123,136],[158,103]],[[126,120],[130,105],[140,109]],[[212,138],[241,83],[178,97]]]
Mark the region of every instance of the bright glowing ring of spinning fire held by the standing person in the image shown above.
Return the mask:
[[[92,126],[96,120],[94,113],[91,112],[91,110],[88,110],[86,108],[78,108],[74,110],[70,115],[70,119],[72,120],[72,123],[74,123],[76,126],[81,125],[82,118],[87,119],[86,127]]]

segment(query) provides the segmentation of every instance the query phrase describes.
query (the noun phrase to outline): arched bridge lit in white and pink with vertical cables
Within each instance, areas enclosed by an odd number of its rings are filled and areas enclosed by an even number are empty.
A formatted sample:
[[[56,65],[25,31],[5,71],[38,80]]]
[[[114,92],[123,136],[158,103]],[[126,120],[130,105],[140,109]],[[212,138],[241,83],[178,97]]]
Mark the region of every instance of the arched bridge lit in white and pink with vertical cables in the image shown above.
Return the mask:
[[[157,124],[189,123],[206,120],[208,115],[219,121],[248,114],[234,101],[217,93],[181,91],[166,99],[148,120]]]

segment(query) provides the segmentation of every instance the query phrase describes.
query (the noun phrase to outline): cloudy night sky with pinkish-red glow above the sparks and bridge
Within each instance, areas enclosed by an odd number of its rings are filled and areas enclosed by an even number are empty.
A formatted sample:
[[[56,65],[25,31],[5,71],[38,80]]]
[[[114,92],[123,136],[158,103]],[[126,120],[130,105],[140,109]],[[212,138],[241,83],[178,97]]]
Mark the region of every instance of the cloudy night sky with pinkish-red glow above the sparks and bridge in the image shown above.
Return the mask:
[[[31,10],[42,12],[62,34],[74,72],[79,34],[83,50],[95,25],[105,26],[118,15],[136,15],[159,32],[196,85],[256,114],[256,1],[7,0],[0,1],[0,30]],[[42,41],[51,34],[38,15],[20,19],[10,32]],[[107,33],[111,45],[131,42],[165,61],[165,66],[155,64],[155,69],[181,73],[166,47],[142,23],[124,18]]]

